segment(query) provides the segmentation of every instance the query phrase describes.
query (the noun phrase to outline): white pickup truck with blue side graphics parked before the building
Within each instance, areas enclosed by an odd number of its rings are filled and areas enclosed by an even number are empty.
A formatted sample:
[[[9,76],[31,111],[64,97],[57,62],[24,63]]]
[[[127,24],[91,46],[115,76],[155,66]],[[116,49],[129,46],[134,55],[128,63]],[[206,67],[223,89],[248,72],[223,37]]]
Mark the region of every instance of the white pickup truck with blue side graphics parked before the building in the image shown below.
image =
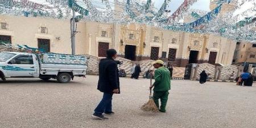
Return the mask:
[[[0,78],[39,77],[42,80],[57,79],[61,83],[73,80],[74,76],[85,76],[87,70],[85,56],[56,53],[0,53]]]

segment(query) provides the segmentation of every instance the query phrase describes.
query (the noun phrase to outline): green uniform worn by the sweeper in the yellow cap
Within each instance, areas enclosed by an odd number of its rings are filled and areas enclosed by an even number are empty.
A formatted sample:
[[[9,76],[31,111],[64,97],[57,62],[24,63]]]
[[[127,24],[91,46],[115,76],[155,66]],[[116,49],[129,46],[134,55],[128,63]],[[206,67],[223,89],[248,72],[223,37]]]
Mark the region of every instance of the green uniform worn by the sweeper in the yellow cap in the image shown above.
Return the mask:
[[[166,112],[169,90],[171,89],[170,71],[167,68],[160,67],[155,71],[154,82],[154,102],[159,108],[159,98],[161,101],[160,111]]]

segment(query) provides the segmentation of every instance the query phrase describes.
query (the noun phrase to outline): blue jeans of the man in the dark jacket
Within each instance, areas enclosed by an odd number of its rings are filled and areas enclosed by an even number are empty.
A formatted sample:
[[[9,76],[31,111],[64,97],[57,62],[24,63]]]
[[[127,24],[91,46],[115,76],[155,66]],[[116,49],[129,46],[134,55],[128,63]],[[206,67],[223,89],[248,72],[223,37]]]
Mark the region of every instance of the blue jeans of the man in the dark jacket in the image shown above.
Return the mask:
[[[104,112],[112,112],[112,96],[113,94],[104,93],[100,104],[98,104],[97,108],[94,110],[94,114],[102,115]]]

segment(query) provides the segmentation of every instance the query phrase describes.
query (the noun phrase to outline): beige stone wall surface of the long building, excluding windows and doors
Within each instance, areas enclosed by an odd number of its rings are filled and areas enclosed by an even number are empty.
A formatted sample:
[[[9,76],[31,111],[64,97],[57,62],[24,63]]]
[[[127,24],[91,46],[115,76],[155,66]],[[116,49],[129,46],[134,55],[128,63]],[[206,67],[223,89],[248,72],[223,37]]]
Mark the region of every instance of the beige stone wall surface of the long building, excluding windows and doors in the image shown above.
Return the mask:
[[[38,47],[37,38],[46,38],[51,40],[51,52],[71,53],[69,20],[5,15],[0,15],[0,20],[9,24],[9,30],[0,30],[0,34],[11,35],[13,43]],[[48,34],[40,34],[39,27],[47,27]],[[167,52],[166,58],[163,58],[167,61],[169,49],[175,48],[177,49],[176,60],[171,63],[177,67],[184,67],[188,63],[190,53],[188,47],[191,47],[191,50],[199,51],[199,63],[207,63],[209,53],[214,51],[217,52],[216,63],[224,65],[232,63],[236,47],[236,43],[232,40],[219,36],[174,32],[145,24],[79,22],[77,31],[77,54],[98,56],[98,42],[105,42],[109,43],[109,48],[117,49],[118,54],[122,57],[125,55],[125,45],[137,46],[137,60],[150,59],[151,47],[159,47],[159,58],[162,57],[162,52]],[[108,35],[102,37],[101,31],[108,32]],[[129,39],[131,33],[135,35],[134,40]],[[159,42],[154,42],[154,36],[159,37]],[[57,40],[57,37],[60,37],[60,40]],[[172,42],[172,39],[176,39],[176,41]],[[199,41],[199,44],[195,45],[196,40]]]

